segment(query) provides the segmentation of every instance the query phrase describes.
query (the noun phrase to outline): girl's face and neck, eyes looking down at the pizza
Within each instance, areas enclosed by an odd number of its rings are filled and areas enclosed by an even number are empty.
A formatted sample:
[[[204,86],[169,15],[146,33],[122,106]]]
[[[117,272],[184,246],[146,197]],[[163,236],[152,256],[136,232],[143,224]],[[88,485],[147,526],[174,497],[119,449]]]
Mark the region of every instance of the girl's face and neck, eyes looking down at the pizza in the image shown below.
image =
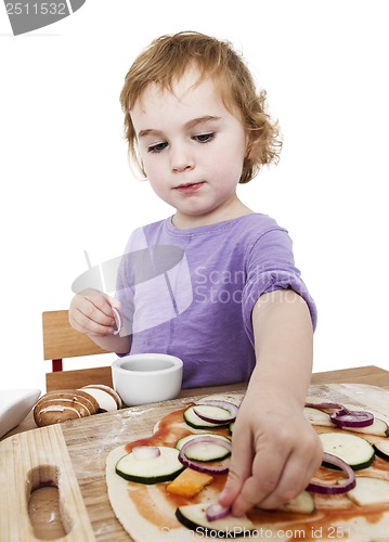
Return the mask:
[[[151,83],[131,111],[138,149],[155,193],[177,209],[178,228],[235,218],[248,138],[213,82],[195,70],[172,88]],[[238,211],[237,211],[238,214]]]

